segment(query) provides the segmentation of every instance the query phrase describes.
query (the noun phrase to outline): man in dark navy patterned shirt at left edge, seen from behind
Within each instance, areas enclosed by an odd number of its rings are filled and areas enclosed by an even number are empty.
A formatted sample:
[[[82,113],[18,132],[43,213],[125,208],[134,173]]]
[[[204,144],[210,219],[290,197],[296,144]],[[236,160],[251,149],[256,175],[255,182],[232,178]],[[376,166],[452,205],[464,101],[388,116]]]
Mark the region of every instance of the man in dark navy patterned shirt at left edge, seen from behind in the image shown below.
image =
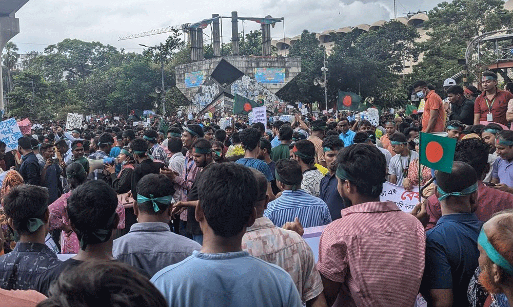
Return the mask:
[[[12,252],[0,256],[0,288],[32,290],[37,276],[61,262],[45,245],[49,230],[48,192],[38,186],[17,186],[4,196],[3,207],[19,240]]]

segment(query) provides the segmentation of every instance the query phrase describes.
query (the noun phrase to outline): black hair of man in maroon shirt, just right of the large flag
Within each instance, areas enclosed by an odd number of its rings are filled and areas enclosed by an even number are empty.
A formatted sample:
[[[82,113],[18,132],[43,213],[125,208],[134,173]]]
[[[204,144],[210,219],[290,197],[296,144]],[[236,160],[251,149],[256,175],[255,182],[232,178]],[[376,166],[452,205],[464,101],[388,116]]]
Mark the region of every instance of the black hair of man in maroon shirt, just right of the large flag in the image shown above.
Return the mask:
[[[458,143],[456,143],[454,161],[468,163],[476,170],[478,178],[481,179],[486,165],[488,164],[489,149],[488,145],[481,139],[470,138],[459,140]]]

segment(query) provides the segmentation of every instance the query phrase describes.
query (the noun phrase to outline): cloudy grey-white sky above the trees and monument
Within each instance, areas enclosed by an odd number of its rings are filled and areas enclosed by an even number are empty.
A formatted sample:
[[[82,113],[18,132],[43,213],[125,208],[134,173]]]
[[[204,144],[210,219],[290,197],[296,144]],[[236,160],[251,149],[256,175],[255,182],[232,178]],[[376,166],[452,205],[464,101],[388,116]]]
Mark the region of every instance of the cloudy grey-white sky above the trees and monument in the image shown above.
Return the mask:
[[[440,0],[398,0],[397,15],[428,11]],[[21,32],[12,41],[20,53],[43,51],[66,38],[100,41],[126,51],[142,52],[139,44],[155,45],[166,34],[119,41],[122,36],[168,26],[195,23],[212,14],[230,16],[284,17],[285,36],[301,34],[303,29],[322,32],[393,18],[393,0],[30,0],[16,13]],[[223,40],[231,35],[229,19],[223,20]],[[259,28],[247,21],[245,32]],[[210,28],[205,32],[210,35]],[[239,22],[242,31],[242,22]],[[284,36],[283,25],[271,29],[275,39]],[[204,36],[205,39],[208,37]]]

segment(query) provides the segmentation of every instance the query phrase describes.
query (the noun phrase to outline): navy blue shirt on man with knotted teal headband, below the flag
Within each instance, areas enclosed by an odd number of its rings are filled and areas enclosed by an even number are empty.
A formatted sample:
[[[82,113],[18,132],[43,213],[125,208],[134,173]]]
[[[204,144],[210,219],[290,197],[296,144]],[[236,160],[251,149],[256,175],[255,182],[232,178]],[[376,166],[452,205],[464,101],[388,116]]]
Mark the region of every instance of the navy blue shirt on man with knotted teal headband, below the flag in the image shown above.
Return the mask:
[[[465,305],[470,278],[479,266],[478,236],[483,226],[474,213],[442,215],[426,231],[426,268],[421,292],[452,289],[455,304]]]

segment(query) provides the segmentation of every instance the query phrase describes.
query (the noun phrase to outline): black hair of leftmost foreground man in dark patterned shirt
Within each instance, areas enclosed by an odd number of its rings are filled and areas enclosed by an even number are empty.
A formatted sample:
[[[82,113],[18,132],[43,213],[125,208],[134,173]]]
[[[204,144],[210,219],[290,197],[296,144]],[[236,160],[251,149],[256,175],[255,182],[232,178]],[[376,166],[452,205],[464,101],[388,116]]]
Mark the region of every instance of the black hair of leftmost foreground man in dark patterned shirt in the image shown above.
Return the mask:
[[[7,217],[12,218],[14,229],[19,233],[30,233],[27,223],[29,218],[40,218],[45,221],[48,208],[48,190],[40,186],[19,185],[11,188],[4,196],[3,207]],[[48,210],[48,209],[47,209]],[[47,221],[45,221],[47,222]]]

